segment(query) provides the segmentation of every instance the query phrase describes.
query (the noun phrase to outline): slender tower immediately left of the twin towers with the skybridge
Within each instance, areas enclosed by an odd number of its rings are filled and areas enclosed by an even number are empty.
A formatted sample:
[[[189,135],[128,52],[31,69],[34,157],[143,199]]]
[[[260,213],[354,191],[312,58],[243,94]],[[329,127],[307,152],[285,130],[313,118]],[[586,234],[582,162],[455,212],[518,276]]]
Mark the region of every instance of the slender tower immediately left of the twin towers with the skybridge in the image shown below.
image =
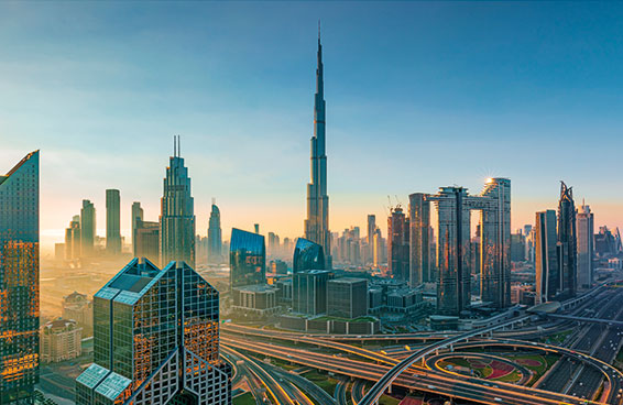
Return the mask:
[[[409,216],[409,286],[433,282],[430,271],[430,202],[427,195],[408,196]]]

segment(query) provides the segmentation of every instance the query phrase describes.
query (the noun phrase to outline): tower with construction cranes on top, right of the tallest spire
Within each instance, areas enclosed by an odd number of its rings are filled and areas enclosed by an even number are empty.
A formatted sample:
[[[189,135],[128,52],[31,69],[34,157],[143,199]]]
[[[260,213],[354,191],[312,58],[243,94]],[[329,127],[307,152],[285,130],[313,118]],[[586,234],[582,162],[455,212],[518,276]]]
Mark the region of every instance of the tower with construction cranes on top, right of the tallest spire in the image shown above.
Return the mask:
[[[392,278],[409,280],[409,227],[400,205],[391,209],[387,218],[387,265]]]

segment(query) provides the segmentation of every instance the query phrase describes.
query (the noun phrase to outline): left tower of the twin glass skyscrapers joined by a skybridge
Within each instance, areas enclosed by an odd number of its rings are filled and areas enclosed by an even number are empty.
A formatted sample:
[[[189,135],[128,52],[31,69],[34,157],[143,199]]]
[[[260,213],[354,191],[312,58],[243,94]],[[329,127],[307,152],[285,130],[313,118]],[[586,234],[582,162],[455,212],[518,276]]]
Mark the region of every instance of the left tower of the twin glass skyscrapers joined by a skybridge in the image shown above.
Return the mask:
[[[470,208],[467,189],[442,187],[428,197],[438,212],[437,311],[459,315],[471,300],[470,289]]]

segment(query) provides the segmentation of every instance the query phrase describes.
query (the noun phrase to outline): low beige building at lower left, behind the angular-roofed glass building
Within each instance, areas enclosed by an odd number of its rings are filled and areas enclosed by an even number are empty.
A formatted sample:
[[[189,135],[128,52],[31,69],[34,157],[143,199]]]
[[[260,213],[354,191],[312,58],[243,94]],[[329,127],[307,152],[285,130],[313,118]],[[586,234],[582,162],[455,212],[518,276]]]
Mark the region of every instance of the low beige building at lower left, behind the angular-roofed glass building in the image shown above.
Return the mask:
[[[75,359],[81,353],[83,328],[76,320],[56,319],[41,327],[40,350],[43,363]]]

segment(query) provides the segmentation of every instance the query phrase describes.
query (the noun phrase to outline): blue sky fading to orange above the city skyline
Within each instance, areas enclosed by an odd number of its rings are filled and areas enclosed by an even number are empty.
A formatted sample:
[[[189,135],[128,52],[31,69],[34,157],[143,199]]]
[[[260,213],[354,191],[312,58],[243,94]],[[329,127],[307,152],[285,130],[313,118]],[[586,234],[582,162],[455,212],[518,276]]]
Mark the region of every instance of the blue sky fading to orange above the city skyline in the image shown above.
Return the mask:
[[[44,242],[106,188],[156,219],[173,134],[199,233],[216,197],[226,234],[298,236],[318,19],[334,230],[488,176],[514,228],[560,179],[623,226],[623,4],[2,2],[0,172],[42,150]]]

